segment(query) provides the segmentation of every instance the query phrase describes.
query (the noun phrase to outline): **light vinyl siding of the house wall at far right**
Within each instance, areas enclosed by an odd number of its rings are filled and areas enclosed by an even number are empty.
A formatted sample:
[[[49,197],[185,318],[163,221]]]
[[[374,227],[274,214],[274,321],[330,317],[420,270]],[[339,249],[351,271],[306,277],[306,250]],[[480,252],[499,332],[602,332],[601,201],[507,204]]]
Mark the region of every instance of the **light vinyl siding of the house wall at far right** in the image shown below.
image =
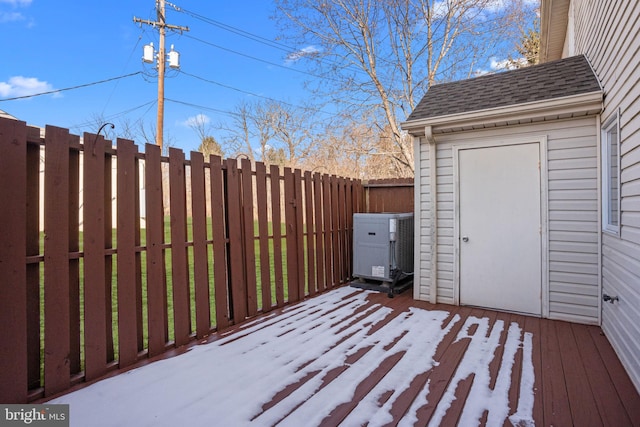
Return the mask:
[[[573,1],[565,51],[584,53],[605,91],[602,123],[620,110],[620,233],[602,236],[602,328],[640,390],[640,3]],[[568,46],[573,40],[574,45]]]

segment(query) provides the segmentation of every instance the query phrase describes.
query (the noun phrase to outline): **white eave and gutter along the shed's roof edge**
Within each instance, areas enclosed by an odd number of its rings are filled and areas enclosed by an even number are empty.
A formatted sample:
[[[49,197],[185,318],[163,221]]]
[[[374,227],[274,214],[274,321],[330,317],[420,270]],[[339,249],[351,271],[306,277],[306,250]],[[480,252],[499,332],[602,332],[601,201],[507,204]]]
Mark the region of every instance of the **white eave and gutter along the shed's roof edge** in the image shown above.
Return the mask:
[[[495,128],[549,120],[584,117],[602,111],[602,91],[547,99],[506,107],[428,117],[401,123],[413,136],[424,136],[425,127],[433,134]]]

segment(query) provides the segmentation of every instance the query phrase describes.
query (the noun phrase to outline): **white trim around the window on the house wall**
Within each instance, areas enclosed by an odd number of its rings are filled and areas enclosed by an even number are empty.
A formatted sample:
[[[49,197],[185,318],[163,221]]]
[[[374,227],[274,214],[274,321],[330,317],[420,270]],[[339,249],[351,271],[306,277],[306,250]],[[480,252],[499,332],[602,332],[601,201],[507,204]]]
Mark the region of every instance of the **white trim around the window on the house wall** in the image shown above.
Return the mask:
[[[616,155],[616,161],[617,161],[617,165],[616,165],[616,170],[617,170],[617,193],[618,193],[618,199],[616,201],[617,206],[616,206],[616,218],[611,218],[610,217],[610,205],[609,203],[611,202],[611,197],[609,194],[609,190],[611,189],[611,172],[610,172],[610,167],[611,167],[611,155],[610,155],[610,145],[609,145],[609,138],[608,138],[608,132],[611,131],[613,128],[616,128],[616,132],[618,134],[618,144],[616,146],[616,150],[617,150],[617,155]],[[622,199],[621,194],[620,194],[620,189],[621,189],[621,185],[620,185],[620,178],[621,178],[621,170],[620,170],[620,145],[622,144],[622,137],[620,134],[620,110],[618,109],[615,114],[610,117],[605,124],[602,126],[602,132],[601,132],[601,161],[602,161],[602,230],[614,235],[619,235],[620,234],[620,219],[621,219],[621,214],[620,214],[620,201]],[[615,219],[615,225],[612,224],[612,219]]]

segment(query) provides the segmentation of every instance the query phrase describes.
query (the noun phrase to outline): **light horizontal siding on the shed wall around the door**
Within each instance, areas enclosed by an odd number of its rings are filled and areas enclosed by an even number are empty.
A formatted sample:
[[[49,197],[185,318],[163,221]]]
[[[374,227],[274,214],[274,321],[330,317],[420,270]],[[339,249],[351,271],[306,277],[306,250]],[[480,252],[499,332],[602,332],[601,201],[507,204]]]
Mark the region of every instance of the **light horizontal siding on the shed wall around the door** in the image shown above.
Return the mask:
[[[456,304],[454,254],[455,188],[453,146],[478,141],[547,138],[548,169],[548,315],[550,318],[600,321],[599,203],[597,120],[594,116],[436,135],[437,143],[437,302]],[[428,218],[430,189],[428,144],[422,140],[420,181],[422,218]],[[426,166],[425,166],[426,165]],[[425,223],[421,224],[422,227]],[[424,238],[430,230],[422,229]],[[428,245],[421,259],[419,295],[431,285]],[[545,298],[546,299],[546,298]]]

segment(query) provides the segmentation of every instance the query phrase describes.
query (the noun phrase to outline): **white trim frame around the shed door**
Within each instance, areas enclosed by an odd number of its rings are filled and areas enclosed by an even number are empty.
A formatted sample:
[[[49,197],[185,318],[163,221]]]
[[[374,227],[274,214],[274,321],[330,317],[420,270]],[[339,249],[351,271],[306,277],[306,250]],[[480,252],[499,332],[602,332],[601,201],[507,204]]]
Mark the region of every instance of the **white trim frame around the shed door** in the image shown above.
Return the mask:
[[[541,277],[542,277],[542,317],[549,317],[549,194],[548,194],[548,161],[547,137],[531,136],[504,139],[478,139],[471,143],[456,144],[451,147],[453,154],[453,300],[460,305],[460,169],[459,152],[471,148],[500,147],[537,143],[540,150],[540,227],[541,227]]]

